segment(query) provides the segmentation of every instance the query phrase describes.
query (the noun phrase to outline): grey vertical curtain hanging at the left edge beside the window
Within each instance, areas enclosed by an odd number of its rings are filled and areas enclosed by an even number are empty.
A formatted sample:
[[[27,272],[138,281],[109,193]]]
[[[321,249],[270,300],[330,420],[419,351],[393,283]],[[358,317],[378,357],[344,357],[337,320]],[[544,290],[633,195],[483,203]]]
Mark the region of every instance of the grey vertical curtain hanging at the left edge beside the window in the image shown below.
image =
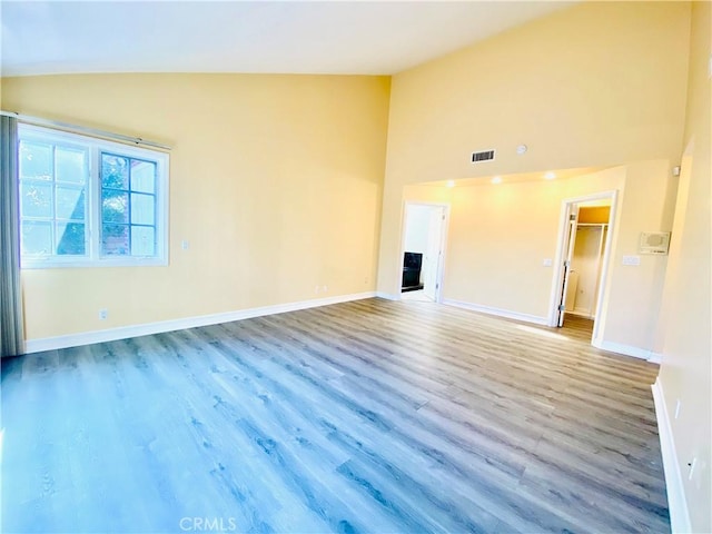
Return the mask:
[[[18,121],[0,116],[0,356],[24,353],[20,283]]]

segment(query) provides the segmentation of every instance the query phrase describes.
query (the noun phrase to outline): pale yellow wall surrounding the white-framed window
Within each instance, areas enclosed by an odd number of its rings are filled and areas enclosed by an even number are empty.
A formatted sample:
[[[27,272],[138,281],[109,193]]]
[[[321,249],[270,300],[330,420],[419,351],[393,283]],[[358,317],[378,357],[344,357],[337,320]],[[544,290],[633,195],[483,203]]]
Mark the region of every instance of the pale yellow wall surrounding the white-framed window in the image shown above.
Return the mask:
[[[170,265],[24,270],[28,339],[373,290],[388,99],[385,77],[3,79],[2,109],[172,146]]]

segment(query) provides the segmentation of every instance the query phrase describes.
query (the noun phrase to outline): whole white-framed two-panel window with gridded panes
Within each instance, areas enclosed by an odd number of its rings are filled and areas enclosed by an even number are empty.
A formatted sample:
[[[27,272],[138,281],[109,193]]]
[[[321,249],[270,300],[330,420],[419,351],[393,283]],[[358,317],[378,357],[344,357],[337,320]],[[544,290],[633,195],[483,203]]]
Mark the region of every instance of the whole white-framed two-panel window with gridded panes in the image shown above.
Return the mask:
[[[168,155],[21,125],[22,267],[166,265]]]

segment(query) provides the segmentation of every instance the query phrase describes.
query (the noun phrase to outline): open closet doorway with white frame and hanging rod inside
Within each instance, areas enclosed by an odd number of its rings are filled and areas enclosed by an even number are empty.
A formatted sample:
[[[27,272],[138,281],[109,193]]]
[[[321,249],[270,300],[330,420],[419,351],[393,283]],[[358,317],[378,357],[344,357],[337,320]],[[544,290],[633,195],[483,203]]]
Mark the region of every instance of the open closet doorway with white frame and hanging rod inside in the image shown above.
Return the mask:
[[[599,336],[617,191],[564,200],[550,325]],[[586,325],[589,326],[586,328]]]

